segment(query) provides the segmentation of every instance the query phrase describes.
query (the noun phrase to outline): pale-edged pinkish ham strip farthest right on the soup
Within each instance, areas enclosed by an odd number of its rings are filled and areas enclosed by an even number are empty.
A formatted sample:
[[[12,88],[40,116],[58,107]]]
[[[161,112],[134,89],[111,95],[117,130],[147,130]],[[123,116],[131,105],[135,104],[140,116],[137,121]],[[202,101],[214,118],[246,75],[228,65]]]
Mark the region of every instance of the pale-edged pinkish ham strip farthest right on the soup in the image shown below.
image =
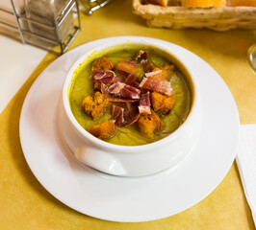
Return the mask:
[[[173,91],[173,89],[170,87],[169,81],[155,81],[149,78],[143,78],[139,86],[144,89],[163,93],[167,96],[172,95]]]

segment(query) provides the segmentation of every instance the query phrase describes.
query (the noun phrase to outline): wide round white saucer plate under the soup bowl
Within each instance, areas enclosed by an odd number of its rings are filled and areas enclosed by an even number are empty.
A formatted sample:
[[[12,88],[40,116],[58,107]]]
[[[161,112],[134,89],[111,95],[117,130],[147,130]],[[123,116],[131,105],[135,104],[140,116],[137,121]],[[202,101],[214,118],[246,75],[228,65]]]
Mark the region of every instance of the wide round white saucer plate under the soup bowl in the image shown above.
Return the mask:
[[[126,36],[129,39],[129,36]],[[239,114],[228,87],[204,60],[177,45],[197,72],[203,112],[202,135],[175,169],[127,178],[81,166],[59,140],[56,113],[64,77],[74,61],[96,45],[92,41],[56,59],[38,77],[23,104],[20,141],[26,161],[41,185],[70,208],[98,219],[140,222],[180,213],[208,196],[228,173],[239,140]]]

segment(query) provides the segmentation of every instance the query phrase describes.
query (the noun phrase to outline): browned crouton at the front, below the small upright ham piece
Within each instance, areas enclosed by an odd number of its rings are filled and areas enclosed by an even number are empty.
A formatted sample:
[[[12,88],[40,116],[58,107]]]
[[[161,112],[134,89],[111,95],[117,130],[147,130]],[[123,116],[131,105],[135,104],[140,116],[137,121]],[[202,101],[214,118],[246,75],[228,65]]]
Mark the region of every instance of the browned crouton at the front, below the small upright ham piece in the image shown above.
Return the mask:
[[[161,131],[163,128],[161,119],[153,110],[151,110],[151,114],[141,114],[137,126],[141,133],[149,139],[154,137],[155,131]]]

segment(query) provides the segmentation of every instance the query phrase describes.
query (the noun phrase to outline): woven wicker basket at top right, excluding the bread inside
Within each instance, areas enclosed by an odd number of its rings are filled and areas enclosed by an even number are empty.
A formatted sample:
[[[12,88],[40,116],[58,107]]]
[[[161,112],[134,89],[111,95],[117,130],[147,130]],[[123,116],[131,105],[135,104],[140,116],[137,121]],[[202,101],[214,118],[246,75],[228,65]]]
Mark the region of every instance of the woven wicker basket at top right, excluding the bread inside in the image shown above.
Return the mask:
[[[255,0],[256,1],[256,0]],[[133,10],[151,27],[171,29],[208,28],[215,31],[256,29],[256,7],[185,8],[141,4],[133,0]]]

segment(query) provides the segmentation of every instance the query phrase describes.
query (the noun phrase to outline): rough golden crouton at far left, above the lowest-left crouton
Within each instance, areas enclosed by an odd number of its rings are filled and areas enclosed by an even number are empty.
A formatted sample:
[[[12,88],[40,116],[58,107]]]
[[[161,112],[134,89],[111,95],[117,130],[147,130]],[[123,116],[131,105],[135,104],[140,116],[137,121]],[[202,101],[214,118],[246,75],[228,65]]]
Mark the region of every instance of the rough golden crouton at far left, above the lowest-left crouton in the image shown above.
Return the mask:
[[[96,119],[104,114],[104,112],[111,106],[111,103],[109,100],[105,99],[100,92],[96,92],[92,97],[86,97],[82,106],[87,114],[93,119]]]

